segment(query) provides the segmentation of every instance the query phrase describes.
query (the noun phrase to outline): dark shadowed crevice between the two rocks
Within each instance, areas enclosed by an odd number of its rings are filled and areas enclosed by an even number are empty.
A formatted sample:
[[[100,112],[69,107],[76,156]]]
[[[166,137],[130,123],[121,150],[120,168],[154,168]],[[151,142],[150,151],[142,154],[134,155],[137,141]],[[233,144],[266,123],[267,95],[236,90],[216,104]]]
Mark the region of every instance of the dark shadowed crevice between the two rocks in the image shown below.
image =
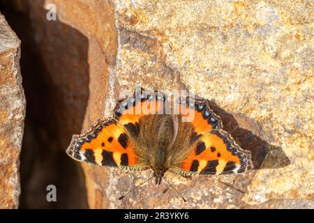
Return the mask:
[[[27,98],[20,208],[88,208],[80,164],[65,151],[89,99],[89,40],[59,19],[47,21],[43,1],[31,3],[27,13],[3,12],[22,41]],[[47,185],[57,187],[57,202],[47,201]]]

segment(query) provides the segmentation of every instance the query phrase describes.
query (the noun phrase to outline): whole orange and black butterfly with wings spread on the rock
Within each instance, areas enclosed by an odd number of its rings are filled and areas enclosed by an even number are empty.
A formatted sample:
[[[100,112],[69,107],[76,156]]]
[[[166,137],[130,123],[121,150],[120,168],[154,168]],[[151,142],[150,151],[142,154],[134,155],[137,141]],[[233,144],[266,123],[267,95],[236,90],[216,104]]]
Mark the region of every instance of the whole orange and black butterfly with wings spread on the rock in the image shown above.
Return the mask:
[[[169,112],[169,105],[177,112]],[[189,116],[193,118],[188,120]],[[239,174],[253,168],[251,152],[223,130],[209,100],[190,96],[174,100],[144,89],[119,100],[113,117],[73,135],[66,153],[104,167],[152,169],[157,185],[166,171],[194,176]]]

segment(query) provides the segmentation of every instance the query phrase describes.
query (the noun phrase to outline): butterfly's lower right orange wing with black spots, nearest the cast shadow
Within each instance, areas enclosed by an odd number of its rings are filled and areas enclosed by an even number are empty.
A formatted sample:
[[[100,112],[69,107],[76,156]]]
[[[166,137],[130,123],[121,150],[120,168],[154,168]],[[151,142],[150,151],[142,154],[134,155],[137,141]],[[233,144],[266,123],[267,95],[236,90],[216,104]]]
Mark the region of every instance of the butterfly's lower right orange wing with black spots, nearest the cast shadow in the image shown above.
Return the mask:
[[[181,169],[192,174],[238,174],[253,168],[251,152],[244,151],[227,132],[211,130],[194,144]]]

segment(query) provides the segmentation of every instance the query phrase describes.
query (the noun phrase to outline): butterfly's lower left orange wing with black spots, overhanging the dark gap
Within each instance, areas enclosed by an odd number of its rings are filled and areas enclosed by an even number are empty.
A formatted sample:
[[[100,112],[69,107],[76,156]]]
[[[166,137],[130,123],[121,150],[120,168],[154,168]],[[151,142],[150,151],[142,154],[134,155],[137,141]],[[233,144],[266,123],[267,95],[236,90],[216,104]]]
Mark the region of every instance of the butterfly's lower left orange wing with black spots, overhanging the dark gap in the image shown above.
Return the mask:
[[[112,118],[99,120],[90,130],[73,135],[66,153],[75,160],[101,166],[130,167],[138,164],[126,128]]]

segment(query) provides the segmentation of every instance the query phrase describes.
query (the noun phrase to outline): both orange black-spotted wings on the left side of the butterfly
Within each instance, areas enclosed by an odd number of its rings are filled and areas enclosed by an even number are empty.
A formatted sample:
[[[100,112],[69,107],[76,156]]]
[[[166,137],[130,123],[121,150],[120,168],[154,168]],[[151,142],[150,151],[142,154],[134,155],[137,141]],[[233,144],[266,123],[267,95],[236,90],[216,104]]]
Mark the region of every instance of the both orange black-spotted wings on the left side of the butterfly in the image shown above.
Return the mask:
[[[137,89],[138,90],[138,89]],[[138,123],[147,114],[163,113],[165,97],[154,91],[135,90],[132,98],[119,100],[114,118],[98,121],[84,134],[73,135],[66,152],[78,161],[102,166],[147,169],[140,163],[132,140],[136,139]]]

